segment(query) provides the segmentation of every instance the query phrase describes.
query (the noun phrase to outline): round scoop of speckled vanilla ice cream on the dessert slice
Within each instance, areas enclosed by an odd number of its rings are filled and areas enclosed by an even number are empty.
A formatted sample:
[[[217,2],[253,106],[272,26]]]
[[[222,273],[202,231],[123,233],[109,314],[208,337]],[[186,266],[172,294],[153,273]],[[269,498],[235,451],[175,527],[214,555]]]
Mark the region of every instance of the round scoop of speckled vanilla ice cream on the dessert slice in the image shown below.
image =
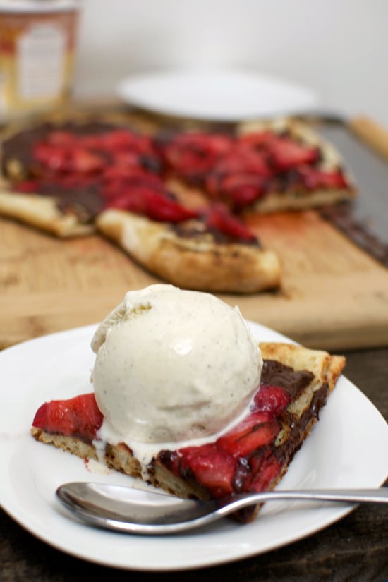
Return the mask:
[[[97,404],[127,440],[213,435],[260,383],[260,348],[238,308],[172,285],[126,293],[97,328],[92,350]]]

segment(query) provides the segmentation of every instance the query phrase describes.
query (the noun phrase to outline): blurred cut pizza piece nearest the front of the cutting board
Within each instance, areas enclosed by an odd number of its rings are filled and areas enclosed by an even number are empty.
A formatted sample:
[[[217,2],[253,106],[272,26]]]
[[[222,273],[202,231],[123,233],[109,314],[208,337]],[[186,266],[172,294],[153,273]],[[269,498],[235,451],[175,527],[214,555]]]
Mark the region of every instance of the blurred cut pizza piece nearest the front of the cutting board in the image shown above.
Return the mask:
[[[263,249],[248,228],[219,205],[176,223],[106,210],[96,225],[140,265],[183,289],[255,293],[280,284],[277,253]]]

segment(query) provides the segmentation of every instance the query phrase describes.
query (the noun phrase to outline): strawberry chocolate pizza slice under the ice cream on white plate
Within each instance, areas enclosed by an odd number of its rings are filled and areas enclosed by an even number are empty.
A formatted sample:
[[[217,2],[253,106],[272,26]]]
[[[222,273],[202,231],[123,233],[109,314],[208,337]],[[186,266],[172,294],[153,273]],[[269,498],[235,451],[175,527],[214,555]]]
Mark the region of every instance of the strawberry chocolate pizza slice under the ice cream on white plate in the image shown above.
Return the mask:
[[[180,497],[271,490],[318,420],[345,359],[293,344],[264,342],[260,349],[262,377],[249,410],[233,428],[205,444],[162,449],[142,463],[131,443],[99,441],[104,416],[93,393],[42,404],[32,435]],[[250,521],[258,509],[240,511],[236,517]]]

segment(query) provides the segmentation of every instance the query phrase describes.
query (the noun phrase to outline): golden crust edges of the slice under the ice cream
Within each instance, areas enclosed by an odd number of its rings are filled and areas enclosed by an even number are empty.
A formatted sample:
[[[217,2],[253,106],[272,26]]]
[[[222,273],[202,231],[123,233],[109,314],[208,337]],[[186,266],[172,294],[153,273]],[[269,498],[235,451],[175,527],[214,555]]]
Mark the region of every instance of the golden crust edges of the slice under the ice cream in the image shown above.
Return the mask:
[[[345,358],[343,356],[332,356],[326,351],[310,350],[302,346],[277,342],[262,342],[260,343],[260,349],[264,359],[277,360],[294,370],[308,370],[313,372],[314,375],[313,381],[310,382],[302,396],[292,402],[288,407],[289,412],[293,413],[294,418],[300,418],[306,414],[309,415],[303,432],[301,432],[298,441],[293,445],[294,454],[301,447],[305,438],[308,437],[315,422],[317,422],[317,410],[312,410],[311,408],[315,392],[324,384],[328,386],[328,394],[332,392],[344,368]],[[286,442],[289,438],[290,430],[290,426],[285,425],[283,422],[275,446],[280,447],[281,444]],[[93,445],[87,445],[73,437],[50,435],[44,432],[44,430],[37,428],[32,428],[32,435],[41,442],[54,444],[54,446],[71,451],[83,459],[97,459],[97,452]],[[272,483],[272,488],[279,483],[279,480],[281,480],[282,476],[288,470],[292,456],[284,465],[277,480]],[[173,475],[166,466],[158,461],[152,461],[147,467],[147,472],[142,473],[139,461],[133,457],[131,449],[126,444],[121,443],[116,446],[107,444],[104,461],[108,466],[116,469],[116,471],[148,480],[155,487],[162,487],[167,492],[178,495],[179,497],[194,496],[200,499],[209,497],[209,492],[204,487],[195,483],[193,480],[183,479]],[[259,509],[259,507],[256,507],[252,517],[257,514]]]

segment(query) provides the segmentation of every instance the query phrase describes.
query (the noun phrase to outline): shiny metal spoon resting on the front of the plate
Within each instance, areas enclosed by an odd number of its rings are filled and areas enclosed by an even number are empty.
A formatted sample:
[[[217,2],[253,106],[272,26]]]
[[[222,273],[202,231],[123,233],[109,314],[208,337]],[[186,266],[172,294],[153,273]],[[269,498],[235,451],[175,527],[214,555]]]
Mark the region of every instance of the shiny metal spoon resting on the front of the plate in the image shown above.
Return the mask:
[[[172,495],[103,483],[66,483],[56,490],[65,507],[93,526],[149,535],[178,533],[221,519],[238,509],[272,500],[303,499],[388,504],[388,487],[242,493],[223,499],[181,499]]]

